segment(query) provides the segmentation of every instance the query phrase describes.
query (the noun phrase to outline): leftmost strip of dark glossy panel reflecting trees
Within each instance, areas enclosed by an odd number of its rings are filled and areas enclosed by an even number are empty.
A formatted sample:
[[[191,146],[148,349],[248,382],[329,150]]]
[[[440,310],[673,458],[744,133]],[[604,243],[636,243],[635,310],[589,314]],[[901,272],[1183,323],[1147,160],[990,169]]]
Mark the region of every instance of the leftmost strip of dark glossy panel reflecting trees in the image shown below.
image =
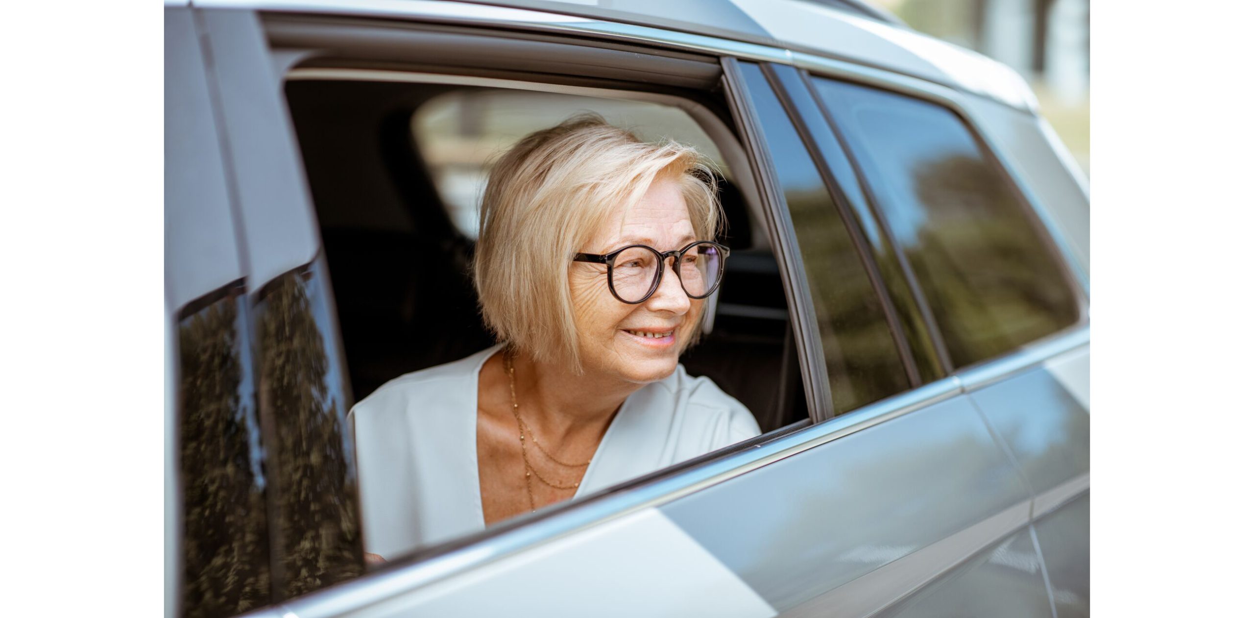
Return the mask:
[[[241,292],[228,291],[178,328],[187,617],[233,615],[270,600],[265,480],[251,449],[252,377],[237,327]]]

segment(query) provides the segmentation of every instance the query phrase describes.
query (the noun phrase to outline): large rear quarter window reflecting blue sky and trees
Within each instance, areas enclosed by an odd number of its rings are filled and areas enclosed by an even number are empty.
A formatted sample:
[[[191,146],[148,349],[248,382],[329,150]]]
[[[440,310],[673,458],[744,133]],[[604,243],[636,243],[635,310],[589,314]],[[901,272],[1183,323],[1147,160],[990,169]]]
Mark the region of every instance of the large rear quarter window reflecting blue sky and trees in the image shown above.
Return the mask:
[[[1075,296],[1004,174],[952,110],[816,79],[956,367],[1078,320]]]

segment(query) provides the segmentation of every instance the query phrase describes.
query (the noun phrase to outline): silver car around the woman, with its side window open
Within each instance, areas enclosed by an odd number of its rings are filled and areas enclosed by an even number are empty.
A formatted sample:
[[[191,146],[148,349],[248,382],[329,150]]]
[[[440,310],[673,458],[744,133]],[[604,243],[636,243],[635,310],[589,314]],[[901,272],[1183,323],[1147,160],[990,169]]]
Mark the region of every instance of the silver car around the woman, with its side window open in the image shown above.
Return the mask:
[[[369,568],[346,414],[490,343],[484,173],[583,110],[714,162],[764,435]],[[1087,615],[1087,217],[859,1],[167,0],[167,615]]]

